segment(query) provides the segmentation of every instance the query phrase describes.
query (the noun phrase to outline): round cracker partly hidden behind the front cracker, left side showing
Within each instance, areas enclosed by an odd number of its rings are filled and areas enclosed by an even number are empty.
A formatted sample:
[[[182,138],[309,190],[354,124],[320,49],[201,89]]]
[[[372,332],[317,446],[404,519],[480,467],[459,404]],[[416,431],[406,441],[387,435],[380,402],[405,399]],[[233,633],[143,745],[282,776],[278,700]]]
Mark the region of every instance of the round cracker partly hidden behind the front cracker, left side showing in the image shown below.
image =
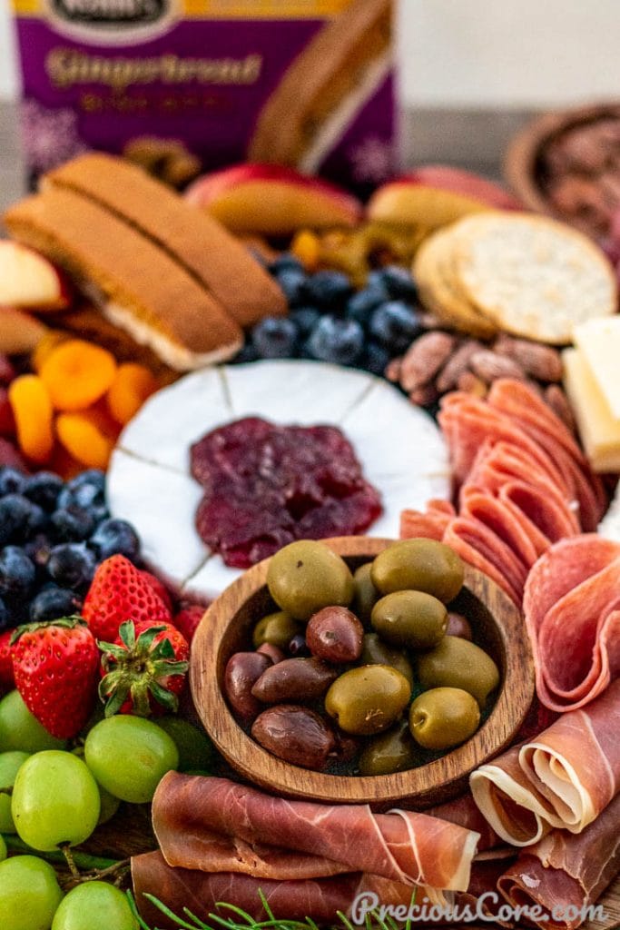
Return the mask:
[[[434,233],[419,247],[413,274],[422,302],[446,326],[479,339],[491,339],[497,328],[459,292],[452,269],[455,227]]]

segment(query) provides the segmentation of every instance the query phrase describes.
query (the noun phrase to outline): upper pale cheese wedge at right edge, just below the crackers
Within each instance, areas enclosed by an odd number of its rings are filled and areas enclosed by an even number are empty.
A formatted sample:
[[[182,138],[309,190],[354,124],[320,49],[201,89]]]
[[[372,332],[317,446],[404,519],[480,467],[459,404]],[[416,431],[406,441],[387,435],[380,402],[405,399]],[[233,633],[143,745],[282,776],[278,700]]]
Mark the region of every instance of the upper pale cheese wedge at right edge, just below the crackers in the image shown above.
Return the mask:
[[[587,320],[574,327],[573,338],[612,416],[620,419],[620,315]]]

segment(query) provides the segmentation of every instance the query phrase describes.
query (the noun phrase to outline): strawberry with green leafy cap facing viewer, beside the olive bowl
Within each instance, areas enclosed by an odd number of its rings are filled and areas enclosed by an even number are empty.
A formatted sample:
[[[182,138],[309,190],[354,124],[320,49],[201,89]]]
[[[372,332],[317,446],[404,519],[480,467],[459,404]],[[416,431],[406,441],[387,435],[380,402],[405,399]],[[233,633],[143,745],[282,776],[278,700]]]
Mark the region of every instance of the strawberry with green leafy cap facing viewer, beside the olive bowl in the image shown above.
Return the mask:
[[[114,643],[98,645],[103,653],[99,697],[106,717],[119,711],[148,717],[154,711],[178,710],[190,647],[176,627],[128,620]]]

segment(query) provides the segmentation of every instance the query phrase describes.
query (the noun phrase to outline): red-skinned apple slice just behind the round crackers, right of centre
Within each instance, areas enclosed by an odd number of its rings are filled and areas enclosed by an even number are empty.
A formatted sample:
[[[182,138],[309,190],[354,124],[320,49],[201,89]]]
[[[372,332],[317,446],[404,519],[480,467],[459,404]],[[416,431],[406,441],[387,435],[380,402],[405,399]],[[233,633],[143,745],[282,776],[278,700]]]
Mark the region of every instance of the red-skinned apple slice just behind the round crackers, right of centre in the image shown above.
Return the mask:
[[[520,208],[492,181],[460,168],[426,165],[380,187],[368,203],[368,217],[435,229],[481,210]]]

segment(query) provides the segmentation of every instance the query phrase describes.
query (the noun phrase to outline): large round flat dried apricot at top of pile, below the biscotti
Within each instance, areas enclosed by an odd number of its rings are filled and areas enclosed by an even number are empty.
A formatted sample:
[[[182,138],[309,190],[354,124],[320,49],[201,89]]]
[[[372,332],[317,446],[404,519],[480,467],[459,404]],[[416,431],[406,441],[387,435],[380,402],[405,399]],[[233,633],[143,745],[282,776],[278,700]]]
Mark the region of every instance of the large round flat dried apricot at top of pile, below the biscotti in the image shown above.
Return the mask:
[[[116,374],[112,352],[84,339],[62,342],[41,365],[57,410],[84,410],[108,391]]]

